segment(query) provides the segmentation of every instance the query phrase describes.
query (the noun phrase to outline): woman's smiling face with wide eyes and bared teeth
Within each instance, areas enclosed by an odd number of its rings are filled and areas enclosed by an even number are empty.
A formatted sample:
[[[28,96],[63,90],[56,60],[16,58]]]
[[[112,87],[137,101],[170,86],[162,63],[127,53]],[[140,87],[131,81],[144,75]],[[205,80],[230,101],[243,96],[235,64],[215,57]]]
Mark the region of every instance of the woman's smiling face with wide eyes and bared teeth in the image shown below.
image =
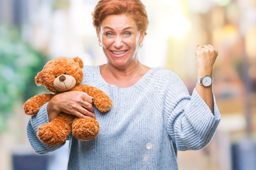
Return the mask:
[[[97,32],[102,42],[107,62],[119,69],[137,63],[137,50],[144,33],[139,32],[135,21],[124,14],[107,16],[102,21],[100,32]]]

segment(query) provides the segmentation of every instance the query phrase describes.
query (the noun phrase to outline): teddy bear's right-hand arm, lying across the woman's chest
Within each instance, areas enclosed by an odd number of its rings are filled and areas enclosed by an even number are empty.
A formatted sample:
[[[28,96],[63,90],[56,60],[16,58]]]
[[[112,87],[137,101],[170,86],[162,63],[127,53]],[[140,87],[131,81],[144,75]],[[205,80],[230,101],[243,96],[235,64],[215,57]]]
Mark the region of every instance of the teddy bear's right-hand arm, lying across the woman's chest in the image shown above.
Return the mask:
[[[104,91],[97,89],[94,86],[80,84],[80,90],[86,92],[89,96],[93,97],[93,104],[101,112],[110,111],[112,108],[112,100]]]

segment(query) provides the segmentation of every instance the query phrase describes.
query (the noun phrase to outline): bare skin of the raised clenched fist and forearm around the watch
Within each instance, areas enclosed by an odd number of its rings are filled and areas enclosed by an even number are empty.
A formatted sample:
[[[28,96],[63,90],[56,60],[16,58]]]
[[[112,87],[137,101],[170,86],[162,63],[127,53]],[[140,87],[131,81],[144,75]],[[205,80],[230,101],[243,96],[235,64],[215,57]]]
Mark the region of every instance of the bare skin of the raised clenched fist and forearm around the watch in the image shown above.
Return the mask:
[[[208,75],[213,77],[213,66],[218,56],[218,51],[211,45],[198,45],[196,50],[196,71],[197,77],[203,78]],[[196,84],[196,91],[203,98],[210,111],[214,113],[212,85],[206,87]]]

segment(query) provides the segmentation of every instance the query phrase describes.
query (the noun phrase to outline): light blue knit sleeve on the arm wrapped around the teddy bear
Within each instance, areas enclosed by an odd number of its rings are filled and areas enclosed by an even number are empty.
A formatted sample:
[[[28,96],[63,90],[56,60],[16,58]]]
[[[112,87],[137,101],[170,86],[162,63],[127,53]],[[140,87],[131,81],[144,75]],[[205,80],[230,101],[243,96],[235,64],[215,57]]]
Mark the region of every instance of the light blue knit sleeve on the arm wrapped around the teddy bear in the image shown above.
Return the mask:
[[[48,152],[53,152],[55,149],[58,149],[63,145],[65,145],[65,143],[63,143],[62,145],[58,145],[58,146],[49,146],[41,142],[41,140],[39,140],[38,137],[36,136],[38,132],[38,127],[40,125],[43,125],[44,123],[49,122],[48,113],[46,111],[47,104],[48,103],[44,104],[40,108],[38,113],[31,117],[27,125],[28,140],[37,154],[46,154]]]

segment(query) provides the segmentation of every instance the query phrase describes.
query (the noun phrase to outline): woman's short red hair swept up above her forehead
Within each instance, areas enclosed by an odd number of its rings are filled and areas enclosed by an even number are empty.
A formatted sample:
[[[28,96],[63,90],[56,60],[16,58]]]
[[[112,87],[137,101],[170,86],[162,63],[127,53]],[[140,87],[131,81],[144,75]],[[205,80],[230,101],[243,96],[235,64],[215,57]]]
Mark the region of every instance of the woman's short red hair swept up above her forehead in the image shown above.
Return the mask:
[[[139,31],[144,31],[149,25],[146,9],[140,0],[100,0],[92,13],[93,26],[100,30],[102,21],[111,15],[126,14],[134,19]]]

